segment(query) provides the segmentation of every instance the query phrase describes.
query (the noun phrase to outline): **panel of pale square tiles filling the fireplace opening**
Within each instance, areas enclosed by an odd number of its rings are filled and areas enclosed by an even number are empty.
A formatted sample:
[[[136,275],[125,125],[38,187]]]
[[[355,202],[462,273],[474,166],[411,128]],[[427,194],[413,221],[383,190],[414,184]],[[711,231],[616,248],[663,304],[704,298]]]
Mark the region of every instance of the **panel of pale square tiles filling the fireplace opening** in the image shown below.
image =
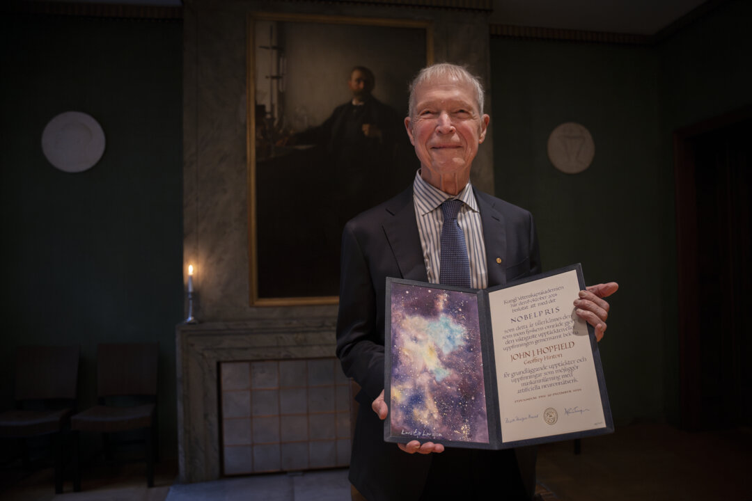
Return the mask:
[[[335,358],[220,362],[225,475],[347,466],[350,386]]]

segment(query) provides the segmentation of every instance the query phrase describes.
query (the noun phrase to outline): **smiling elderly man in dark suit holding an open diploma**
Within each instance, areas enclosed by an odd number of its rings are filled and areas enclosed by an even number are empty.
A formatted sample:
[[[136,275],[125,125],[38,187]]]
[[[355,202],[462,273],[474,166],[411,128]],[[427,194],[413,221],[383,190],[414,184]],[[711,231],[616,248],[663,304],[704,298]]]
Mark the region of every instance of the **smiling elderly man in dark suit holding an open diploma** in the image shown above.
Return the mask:
[[[465,283],[486,288],[541,272],[530,213],[470,183],[489,122],[483,99],[481,83],[462,67],[438,64],[420,71],[405,118],[420,171],[408,190],[352,219],[342,235],[337,355],[344,373],[362,387],[350,481],[369,501],[530,499],[535,487],[535,449],[444,450],[432,442],[384,442],[385,279],[444,283],[440,235],[446,207],[459,208],[449,217],[456,218],[465,241]],[[598,339],[608,316],[602,297],[617,287],[594,285],[575,300],[575,311],[595,327]]]

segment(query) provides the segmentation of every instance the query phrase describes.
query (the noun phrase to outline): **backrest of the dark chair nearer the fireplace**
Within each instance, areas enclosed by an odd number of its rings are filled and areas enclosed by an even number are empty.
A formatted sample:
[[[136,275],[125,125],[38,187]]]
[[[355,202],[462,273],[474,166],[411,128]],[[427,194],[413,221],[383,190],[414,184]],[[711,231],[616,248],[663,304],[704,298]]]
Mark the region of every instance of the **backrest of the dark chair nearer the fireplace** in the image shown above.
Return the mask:
[[[159,343],[97,346],[97,396],[156,395]]]

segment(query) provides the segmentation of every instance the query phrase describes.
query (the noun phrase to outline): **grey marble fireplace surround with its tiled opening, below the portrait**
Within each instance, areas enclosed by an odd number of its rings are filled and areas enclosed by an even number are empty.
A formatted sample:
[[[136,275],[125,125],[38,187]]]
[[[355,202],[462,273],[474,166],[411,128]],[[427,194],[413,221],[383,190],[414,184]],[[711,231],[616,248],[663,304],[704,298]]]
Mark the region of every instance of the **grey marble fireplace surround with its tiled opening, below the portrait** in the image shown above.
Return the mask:
[[[177,327],[180,481],[347,466],[333,341],[331,317]]]

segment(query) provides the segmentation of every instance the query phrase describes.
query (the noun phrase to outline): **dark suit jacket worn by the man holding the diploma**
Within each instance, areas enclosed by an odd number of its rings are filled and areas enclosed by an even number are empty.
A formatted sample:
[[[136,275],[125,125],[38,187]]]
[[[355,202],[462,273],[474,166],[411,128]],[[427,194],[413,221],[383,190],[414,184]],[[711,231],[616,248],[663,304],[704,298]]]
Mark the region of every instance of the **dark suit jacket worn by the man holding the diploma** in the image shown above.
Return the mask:
[[[526,210],[475,190],[486,244],[488,285],[541,272],[538,239]],[[432,455],[405,454],[384,442],[384,423],[371,402],[384,388],[384,309],[387,276],[427,282],[412,186],[345,225],[342,234],[337,356],[344,373],[362,387],[350,481],[368,499],[418,499]],[[447,448],[443,456],[465,451]],[[519,466],[526,490],[535,487],[535,450],[473,451],[478,478]],[[478,455],[480,454],[480,455]],[[459,461],[459,459],[458,459]],[[491,473],[493,469],[496,472]],[[497,488],[503,489],[502,486]]]

